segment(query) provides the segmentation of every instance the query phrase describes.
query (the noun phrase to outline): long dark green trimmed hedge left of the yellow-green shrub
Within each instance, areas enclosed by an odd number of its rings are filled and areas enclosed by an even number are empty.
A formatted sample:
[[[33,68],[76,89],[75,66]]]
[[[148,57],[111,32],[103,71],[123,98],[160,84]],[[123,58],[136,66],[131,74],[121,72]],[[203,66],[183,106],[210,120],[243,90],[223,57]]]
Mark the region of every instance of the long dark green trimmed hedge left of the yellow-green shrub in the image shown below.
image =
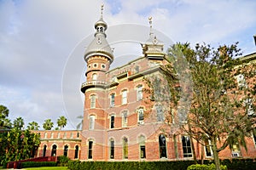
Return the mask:
[[[68,161],[70,170],[186,170],[194,161]]]

